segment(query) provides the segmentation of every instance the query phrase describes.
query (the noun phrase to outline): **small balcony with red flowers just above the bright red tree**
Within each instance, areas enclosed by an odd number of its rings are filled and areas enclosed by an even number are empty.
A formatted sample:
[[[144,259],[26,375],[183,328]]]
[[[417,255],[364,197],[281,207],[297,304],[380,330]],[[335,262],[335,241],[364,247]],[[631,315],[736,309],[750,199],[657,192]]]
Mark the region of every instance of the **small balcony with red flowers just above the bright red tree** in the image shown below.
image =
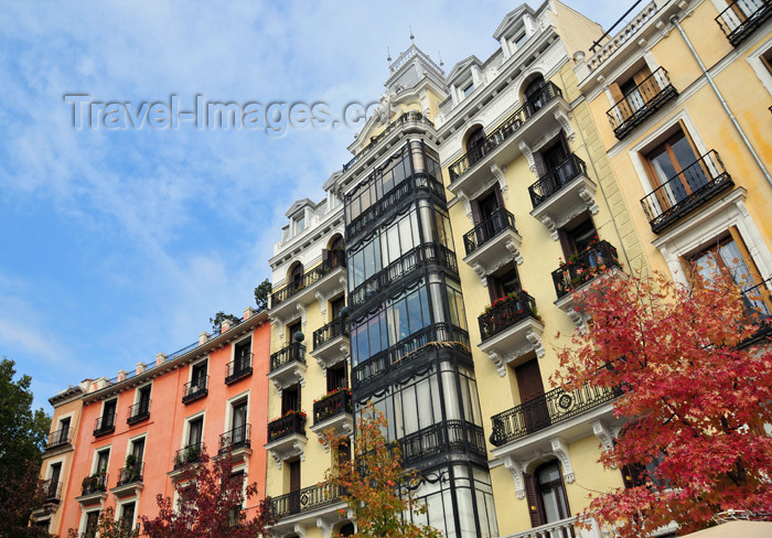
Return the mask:
[[[616,248],[594,236],[582,252],[571,255],[565,261],[560,258],[559,263],[560,267],[553,271],[553,283],[558,295],[555,305],[581,329],[586,319],[576,309],[575,294],[599,277],[624,276]]]

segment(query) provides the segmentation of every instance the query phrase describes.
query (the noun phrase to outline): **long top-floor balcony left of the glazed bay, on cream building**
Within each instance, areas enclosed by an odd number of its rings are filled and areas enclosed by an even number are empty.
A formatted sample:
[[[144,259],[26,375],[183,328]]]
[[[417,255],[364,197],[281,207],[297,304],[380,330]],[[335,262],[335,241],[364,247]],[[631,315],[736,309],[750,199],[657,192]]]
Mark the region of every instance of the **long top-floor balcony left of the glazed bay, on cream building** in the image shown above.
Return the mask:
[[[317,294],[331,297],[346,286],[346,255],[343,250],[333,250],[330,257],[309,269],[303,276],[276,290],[270,295],[271,318],[289,319],[298,312],[298,304],[309,304],[317,300]]]

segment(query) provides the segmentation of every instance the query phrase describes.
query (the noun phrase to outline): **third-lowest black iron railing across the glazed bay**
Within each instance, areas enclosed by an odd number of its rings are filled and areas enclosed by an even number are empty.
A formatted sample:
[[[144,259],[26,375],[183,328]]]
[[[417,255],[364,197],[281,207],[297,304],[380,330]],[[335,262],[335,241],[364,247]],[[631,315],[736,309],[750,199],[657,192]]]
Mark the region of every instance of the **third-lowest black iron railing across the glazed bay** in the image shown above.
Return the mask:
[[[459,272],[459,265],[452,250],[437,243],[419,245],[354,288],[349,294],[349,304],[352,309],[361,306],[371,297],[387,289],[392,282],[407,277],[425,263],[438,263],[454,273]]]

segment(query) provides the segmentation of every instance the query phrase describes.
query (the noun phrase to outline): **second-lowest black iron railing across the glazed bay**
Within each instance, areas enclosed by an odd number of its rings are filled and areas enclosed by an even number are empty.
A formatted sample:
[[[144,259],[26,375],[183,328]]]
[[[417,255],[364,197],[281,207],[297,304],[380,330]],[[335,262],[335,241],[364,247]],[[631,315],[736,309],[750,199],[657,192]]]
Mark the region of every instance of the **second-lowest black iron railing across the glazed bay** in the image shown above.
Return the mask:
[[[449,323],[435,323],[428,327],[416,331],[387,349],[383,349],[367,361],[357,364],[351,370],[354,388],[368,383],[371,379],[386,373],[393,365],[407,364],[410,359],[420,356],[419,349],[426,349],[432,342],[454,343],[469,349],[469,333],[463,329]]]

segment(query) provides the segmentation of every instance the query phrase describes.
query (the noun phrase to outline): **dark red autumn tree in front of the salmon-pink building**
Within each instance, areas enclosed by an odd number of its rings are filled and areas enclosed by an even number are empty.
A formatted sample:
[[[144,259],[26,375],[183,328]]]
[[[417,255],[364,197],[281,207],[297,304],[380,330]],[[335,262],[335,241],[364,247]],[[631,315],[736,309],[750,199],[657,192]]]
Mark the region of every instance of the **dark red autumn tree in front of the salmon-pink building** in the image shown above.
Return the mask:
[[[202,451],[197,462],[183,463],[175,478],[176,505],[158,495],[159,513],[142,516],[142,536],[148,538],[254,538],[271,536],[275,523],[270,499],[260,499],[249,510],[245,502],[257,496],[257,483],[244,487],[244,474],[233,473],[225,454],[210,458]],[[246,492],[246,493],[245,493]],[[246,514],[254,509],[247,519]]]

